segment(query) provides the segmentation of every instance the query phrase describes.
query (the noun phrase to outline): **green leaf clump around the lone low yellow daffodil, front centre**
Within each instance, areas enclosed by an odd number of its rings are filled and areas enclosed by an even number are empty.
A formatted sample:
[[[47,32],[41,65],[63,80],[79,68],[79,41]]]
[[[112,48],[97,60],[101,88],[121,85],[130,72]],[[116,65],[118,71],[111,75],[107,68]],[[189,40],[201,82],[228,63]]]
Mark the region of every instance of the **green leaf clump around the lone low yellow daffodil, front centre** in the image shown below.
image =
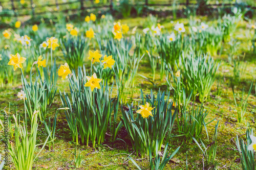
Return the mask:
[[[164,99],[165,93],[159,90],[155,98],[151,90],[151,95],[146,95],[146,100],[144,100],[144,94],[141,90],[140,104],[145,105],[147,102],[152,107],[155,107],[152,110],[153,116],[149,116],[148,118],[143,118],[139,113],[137,113],[137,117],[135,118],[133,104],[127,105],[129,108],[128,111],[122,107],[121,120],[137,156],[140,152],[141,157],[144,157],[145,154],[148,157],[150,155],[150,149],[152,151],[155,149],[160,150],[163,140],[169,140],[177,113],[177,109],[174,112],[172,111],[173,103],[168,102],[169,95],[170,93],[168,92],[167,99]],[[158,145],[156,143],[157,139],[159,142]]]

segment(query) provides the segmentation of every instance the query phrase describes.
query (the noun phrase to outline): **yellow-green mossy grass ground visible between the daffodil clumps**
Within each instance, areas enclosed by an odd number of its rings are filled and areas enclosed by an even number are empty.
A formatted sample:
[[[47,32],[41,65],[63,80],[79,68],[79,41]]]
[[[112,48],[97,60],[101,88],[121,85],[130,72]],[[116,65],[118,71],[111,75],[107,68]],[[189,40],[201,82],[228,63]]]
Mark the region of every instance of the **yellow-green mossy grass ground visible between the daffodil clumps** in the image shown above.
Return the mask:
[[[134,26],[142,26],[144,18],[128,18],[122,19],[122,23],[129,23],[130,28]],[[207,21],[205,17],[199,17],[203,21]],[[159,22],[165,26],[166,29],[171,30],[174,24],[169,22],[169,18],[159,19]],[[184,25],[188,26],[187,19],[179,19],[180,22],[183,22]],[[209,21],[210,23],[212,21]],[[215,22],[215,21],[213,21]],[[176,23],[176,20],[174,21]],[[238,82],[233,82],[235,92],[241,97],[242,89],[245,87],[245,92],[247,93],[249,89],[249,85],[251,81],[255,80],[256,77],[256,69],[255,69],[255,55],[249,52],[249,41],[251,37],[247,37],[246,34],[249,30],[247,28],[248,22],[240,21],[238,28],[233,35],[239,39],[242,43],[237,47],[238,54],[242,56],[244,53],[245,61],[247,62],[247,67],[243,75],[241,75],[241,79]],[[138,28],[139,31],[142,30],[142,27]],[[233,94],[231,89],[231,80],[233,79],[232,66],[227,63],[227,55],[228,55],[229,46],[227,43],[223,44],[223,53],[218,56],[214,56],[217,61],[221,61],[221,66],[219,68],[219,72],[217,75],[217,79],[222,79],[224,76],[224,82],[221,84],[221,93],[220,96],[217,96],[217,86],[218,81],[216,80],[214,85],[212,86],[209,99],[205,102],[204,106],[207,111],[209,111],[208,116],[206,117],[206,122],[209,120],[216,118],[216,120],[210,123],[208,128],[209,137],[214,133],[214,127],[219,120],[219,128],[218,128],[218,148],[217,148],[217,168],[218,169],[241,169],[241,163],[239,162],[239,153],[236,151],[235,141],[236,135],[242,135],[246,132],[246,125],[249,122],[250,125],[254,128],[255,123],[253,118],[256,120],[255,116],[255,106],[256,106],[256,98],[255,98],[255,88],[253,88],[251,95],[248,100],[248,107],[245,114],[245,118],[243,122],[237,123],[233,118],[237,117],[236,106],[234,105]],[[61,55],[59,53],[59,55]],[[61,57],[61,56],[60,56]],[[58,61],[60,63],[60,61]],[[86,67],[90,68],[90,63],[86,62]],[[151,68],[148,67],[145,61],[142,61],[139,66],[138,74],[141,74],[147,78],[152,79]],[[255,83],[254,83],[255,84]],[[21,82],[19,81],[19,76],[17,78],[17,84],[14,86],[7,86],[4,88],[0,88],[0,110],[3,112],[5,109],[8,111],[9,103],[10,103],[10,112],[9,116],[15,113],[16,108],[17,112],[23,114],[24,106],[23,101],[20,101],[16,94],[18,91],[22,89]],[[61,81],[58,79],[57,82],[58,90],[61,91],[69,91],[68,81]],[[151,89],[153,89],[156,94],[159,90],[159,87],[162,91],[167,89],[166,82],[160,81],[160,76],[156,74],[156,81],[154,85],[140,76],[136,76],[135,88],[133,98],[137,98],[140,95],[140,89],[143,92],[149,93]],[[247,94],[246,94],[247,95]],[[131,103],[132,101],[127,101],[127,103]],[[135,101],[135,103],[137,103]],[[200,103],[196,103],[196,105],[200,105]],[[59,94],[57,93],[54,98],[54,103],[49,108],[49,115],[53,115],[57,108],[62,107],[61,101],[59,98]],[[121,111],[119,115],[121,116]],[[159,132],[161,133],[161,132]],[[49,169],[69,169],[74,166],[74,150],[75,143],[72,141],[71,133],[69,131],[69,127],[67,124],[67,120],[65,117],[65,113],[60,111],[57,118],[57,127],[56,127],[56,139],[55,139],[55,149],[53,151],[48,151],[48,145],[39,156],[34,161],[33,169],[45,169],[48,167]],[[120,137],[122,134],[125,134],[125,130],[122,129],[118,134]],[[172,136],[169,141],[169,152],[174,152],[179,146],[181,147],[179,152],[174,156],[178,158],[179,163],[175,163],[170,161],[165,169],[185,169],[186,168],[186,155],[187,155],[187,163],[188,169],[202,169],[202,152],[198,148],[197,144],[194,142],[186,143],[183,137],[175,137],[178,135],[176,124],[172,130]],[[122,137],[122,136],[121,136]],[[245,137],[242,135],[241,137]],[[44,126],[39,123],[38,134],[37,134],[37,143],[42,143],[47,138],[47,133],[45,131]],[[79,145],[78,148],[82,151],[82,166],[80,169],[136,169],[131,161],[127,161],[127,154],[131,154],[133,152],[132,145],[129,142],[129,138],[125,136],[124,141],[116,140],[115,142],[110,142],[110,137],[106,135],[105,142],[100,146],[100,150],[98,148],[92,148],[91,145],[89,147],[85,147],[84,145]],[[201,139],[203,141],[207,141],[206,132],[203,131],[201,135]],[[13,138],[11,139],[13,140]],[[232,141],[233,140],[233,141]],[[209,143],[209,142],[205,142]],[[0,148],[2,150],[3,144],[1,143]],[[40,147],[36,150],[38,152]],[[119,154],[119,155],[116,155]],[[134,159],[140,159],[140,157],[136,157],[135,155],[131,155]],[[11,158],[9,157],[11,161]],[[126,162],[123,164],[123,162]],[[148,161],[146,159],[136,160],[138,164],[144,168],[148,168]],[[207,166],[207,165],[205,165]],[[14,169],[14,165],[10,163],[5,167],[6,169]],[[210,166],[208,167],[210,168]]]

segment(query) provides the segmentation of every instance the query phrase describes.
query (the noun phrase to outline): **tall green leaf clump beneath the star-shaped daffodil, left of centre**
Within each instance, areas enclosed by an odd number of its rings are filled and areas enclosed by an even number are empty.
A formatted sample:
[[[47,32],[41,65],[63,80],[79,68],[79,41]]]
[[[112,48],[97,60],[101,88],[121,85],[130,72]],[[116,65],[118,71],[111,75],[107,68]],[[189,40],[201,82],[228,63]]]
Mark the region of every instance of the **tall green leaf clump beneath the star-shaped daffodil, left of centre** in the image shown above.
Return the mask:
[[[69,79],[71,100],[65,91],[63,95],[60,92],[60,99],[63,107],[69,108],[65,113],[73,140],[78,144],[80,134],[82,143],[85,139],[88,147],[90,139],[95,147],[96,140],[98,146],[104,142],[111,113],[117,110],[118,101],[111,96],[113,86],[109,89],[104,82],[101,83],[100,89],[94,91],[85,87],[86,75],[84,66],[83,71],[78,68],[77,76],[73,71],[73,76]]]

